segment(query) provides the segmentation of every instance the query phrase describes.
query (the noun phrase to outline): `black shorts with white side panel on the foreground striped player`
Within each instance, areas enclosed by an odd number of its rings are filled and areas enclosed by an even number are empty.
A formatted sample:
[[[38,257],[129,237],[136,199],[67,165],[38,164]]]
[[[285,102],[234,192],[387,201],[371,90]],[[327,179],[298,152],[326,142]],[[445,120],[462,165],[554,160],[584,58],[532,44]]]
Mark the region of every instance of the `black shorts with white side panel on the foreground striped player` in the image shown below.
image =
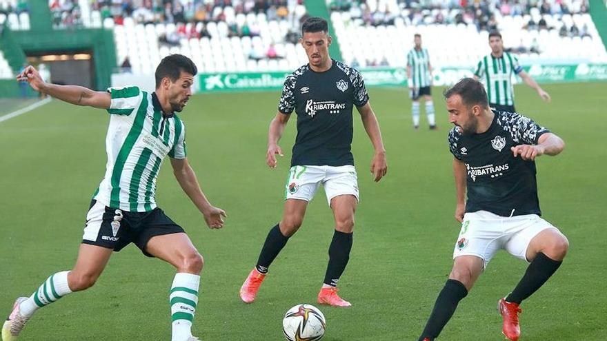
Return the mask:
[[[180,232],[184,232],[181,226],[158,207],[149,212],[128,212],[92,200],[86,215],[82,242],[114,251],[120,251],[133,242],[144,255],[153,257],[146,252],[150,238]]]

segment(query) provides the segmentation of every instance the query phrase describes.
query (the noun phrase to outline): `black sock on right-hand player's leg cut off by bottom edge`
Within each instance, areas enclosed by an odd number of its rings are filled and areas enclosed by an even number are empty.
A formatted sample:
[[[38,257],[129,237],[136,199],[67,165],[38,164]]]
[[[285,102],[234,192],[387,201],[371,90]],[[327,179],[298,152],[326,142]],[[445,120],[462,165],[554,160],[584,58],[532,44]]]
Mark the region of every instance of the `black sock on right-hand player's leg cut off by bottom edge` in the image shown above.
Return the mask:
[[[424,338],[430,338],[430,340],[438,338],[453,313],[455,313],[457,304],[466,295],[468,295],[468,290],[459,280],[447,280],[441,293],[439,293],[439,297],[437,297],[434,309],[432,309],[419,341],[424,340]]]

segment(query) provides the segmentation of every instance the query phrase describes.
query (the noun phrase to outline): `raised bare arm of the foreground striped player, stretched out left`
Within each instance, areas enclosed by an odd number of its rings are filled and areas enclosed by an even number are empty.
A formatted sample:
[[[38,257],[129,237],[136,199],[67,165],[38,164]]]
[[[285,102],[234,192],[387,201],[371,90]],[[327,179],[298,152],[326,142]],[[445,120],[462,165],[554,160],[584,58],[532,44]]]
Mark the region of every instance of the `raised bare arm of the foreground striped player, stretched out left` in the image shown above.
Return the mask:
[[[17,81],[27,81],[32,89],[48,94],[61,101],[75,105],[87,105],[109,109],[112,96],[108,92],[99,92],[78,85],[56,85],[46,83],[38,73],[38,70],[29,65],[23,72],[17,75]]]

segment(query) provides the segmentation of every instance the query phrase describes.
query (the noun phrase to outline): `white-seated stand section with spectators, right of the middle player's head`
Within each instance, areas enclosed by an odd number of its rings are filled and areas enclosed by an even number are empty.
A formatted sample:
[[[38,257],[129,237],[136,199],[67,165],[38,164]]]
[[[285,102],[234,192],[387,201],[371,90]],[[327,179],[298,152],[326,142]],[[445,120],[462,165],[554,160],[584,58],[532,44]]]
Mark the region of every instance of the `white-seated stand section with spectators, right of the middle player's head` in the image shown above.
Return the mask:
[[[404,67],[413,34],[420,33],[434,65],[470,65],[488,53],[488,31],[495,29],[503,35],[506,50],[521,54],[523,62],[607,61],[586,1],[424,3],[427,6],[417,1],[328,0],[345,61]],[[439,51],[448,53],[432,53]]]

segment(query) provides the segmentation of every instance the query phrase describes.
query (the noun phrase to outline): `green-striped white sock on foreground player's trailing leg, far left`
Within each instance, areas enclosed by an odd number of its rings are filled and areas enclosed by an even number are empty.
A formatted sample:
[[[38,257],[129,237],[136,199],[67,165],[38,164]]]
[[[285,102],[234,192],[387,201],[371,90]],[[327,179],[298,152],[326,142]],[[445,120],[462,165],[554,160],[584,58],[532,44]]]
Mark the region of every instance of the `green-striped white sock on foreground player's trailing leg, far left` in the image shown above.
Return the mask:
[[[19,304],[19,313],[21,316],[29,318],[39,308],[59,300],[68,293],[72,293],[68,286],[68,273],[70,271],[61,271],[54,273],[42,283],[38,290],[32,293],[32,296]]]

